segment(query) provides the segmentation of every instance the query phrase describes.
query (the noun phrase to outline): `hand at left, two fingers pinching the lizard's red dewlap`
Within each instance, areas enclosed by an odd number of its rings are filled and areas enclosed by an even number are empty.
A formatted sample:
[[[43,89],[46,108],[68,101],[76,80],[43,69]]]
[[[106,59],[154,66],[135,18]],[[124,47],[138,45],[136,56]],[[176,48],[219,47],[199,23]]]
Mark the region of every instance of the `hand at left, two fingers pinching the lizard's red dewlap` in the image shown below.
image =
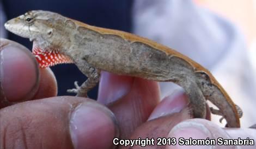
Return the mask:
[[[86,98],[57,97],[50,69],[39,69],[20,44],[0,43],[0,148],[112,146],[117,127],[109,109]]]

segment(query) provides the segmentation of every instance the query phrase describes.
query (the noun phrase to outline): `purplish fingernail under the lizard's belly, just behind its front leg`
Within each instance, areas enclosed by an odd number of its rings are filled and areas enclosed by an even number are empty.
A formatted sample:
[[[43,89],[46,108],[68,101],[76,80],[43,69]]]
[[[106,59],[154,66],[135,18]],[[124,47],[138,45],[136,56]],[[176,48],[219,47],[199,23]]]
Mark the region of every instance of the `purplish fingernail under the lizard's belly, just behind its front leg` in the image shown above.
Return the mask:
[[[131,90],[133,78],[101,72],[97,101],[106,105],[120,99]]]

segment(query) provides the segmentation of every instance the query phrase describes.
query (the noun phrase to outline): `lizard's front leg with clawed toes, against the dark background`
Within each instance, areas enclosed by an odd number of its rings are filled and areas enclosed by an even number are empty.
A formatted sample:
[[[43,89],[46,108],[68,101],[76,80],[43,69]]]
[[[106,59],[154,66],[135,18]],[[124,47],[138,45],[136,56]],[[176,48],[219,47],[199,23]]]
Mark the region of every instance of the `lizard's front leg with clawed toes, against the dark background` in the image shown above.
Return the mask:
[[[68,89],[67,92],[76,93],[76,96],[79,97],[87,97],[87,92],[95,87],[100,81],[100,70],[90,66],[88,63],[83,63],[83,67],[78,68],[88,77],[88,79],[84,81],[81,86],[78,86],[77,81],[75,81],[76,88]]]

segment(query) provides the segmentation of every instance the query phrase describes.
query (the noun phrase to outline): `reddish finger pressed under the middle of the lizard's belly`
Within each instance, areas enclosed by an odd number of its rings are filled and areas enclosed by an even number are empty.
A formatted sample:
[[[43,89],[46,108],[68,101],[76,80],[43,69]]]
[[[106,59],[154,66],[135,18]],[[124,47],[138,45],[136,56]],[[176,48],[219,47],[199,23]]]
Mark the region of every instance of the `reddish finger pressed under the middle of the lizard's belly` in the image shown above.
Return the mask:
[[[127,138],[136,127],[147,121],[159,103],[159,85],[154,81],[104,72],[101,74],[98,101],[111,102],[108,107],[118,120],[120,136]]]

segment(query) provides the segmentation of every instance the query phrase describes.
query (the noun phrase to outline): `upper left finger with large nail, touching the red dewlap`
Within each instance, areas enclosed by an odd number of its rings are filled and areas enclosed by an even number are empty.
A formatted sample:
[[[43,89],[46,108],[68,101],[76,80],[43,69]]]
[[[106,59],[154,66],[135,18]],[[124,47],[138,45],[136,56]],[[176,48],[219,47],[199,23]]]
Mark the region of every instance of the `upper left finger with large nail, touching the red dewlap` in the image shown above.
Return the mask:
[[[50,70],[40,70],[31,52],[21,44],[1,39],[0,107],[31,100],[36,93],[56,95],[56,81]],[[40,75],[41,74],[41,75]],[[52,92],[46,88],[51,88]],[[39,98],[40,95],[36,96]]]

